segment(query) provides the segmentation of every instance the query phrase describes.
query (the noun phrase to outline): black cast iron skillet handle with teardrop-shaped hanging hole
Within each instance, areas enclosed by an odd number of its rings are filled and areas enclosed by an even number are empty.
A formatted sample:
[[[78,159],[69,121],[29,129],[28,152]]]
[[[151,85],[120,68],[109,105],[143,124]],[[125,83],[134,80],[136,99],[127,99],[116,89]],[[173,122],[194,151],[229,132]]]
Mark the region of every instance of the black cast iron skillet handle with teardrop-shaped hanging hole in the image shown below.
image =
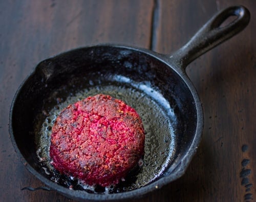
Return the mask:
[[[237,16],[226,26],[221,26],[230,16]],[[207,23],[170,59],[185,71],[186,66],[200,55],[242,31],[250,21],[250,12],[243,6],[232,6],[215,14]]]

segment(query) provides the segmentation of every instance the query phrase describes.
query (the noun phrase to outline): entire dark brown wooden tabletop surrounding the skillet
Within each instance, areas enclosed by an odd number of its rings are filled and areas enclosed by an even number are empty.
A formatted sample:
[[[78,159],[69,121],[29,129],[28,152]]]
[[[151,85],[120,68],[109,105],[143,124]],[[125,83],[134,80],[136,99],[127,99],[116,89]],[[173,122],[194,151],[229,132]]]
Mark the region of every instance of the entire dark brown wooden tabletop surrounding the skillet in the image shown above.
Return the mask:
[[[40,61],[102,42],[170,54],[218,10],[242,4],[248,27],[191,63],[204,110],[203,139],[184,176],[134,201],[256,201],[256,2],[254,0],[1,1],[0,201],[73,201],[44,186],[17,158],[12,98]]]

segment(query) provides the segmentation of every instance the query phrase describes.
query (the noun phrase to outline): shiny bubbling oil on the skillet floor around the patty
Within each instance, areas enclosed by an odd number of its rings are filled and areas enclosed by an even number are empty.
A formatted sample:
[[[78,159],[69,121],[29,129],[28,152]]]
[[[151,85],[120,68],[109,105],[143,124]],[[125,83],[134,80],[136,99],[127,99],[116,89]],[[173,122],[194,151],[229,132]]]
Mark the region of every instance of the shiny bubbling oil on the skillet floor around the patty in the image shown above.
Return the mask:
[[[56,98],[58,105],[49,110],[47,113],[49,116],[41,126],[38,141],[39,147],[37,150],[39,161],[44,166],[45,172],[51,176],[54,182],[70,189],[86,190],[90,193],[117,193],[145,186],[153,182],[163,173],[166,166],[172,161],[175,153],[176,142],[173,130],[175,116],[168,104],[166,105],[164,101],[161,101],[162,98],[159,95],[154,95],[156,92],[153,89],[145,89],[143,85],[139,88],[138,86],[135,88],[125,85],[92,86],[67,98]],[[72,176],[58,174],[50,163],[49,147],[51,128],[58,114],[69,104],[96,94],[111,95],[135,108],[142,119],[145,130],[143,166],[131,171],[125,178],[125,181],[120,182],[116,187],[102,188],[99,186],[88,186]]]

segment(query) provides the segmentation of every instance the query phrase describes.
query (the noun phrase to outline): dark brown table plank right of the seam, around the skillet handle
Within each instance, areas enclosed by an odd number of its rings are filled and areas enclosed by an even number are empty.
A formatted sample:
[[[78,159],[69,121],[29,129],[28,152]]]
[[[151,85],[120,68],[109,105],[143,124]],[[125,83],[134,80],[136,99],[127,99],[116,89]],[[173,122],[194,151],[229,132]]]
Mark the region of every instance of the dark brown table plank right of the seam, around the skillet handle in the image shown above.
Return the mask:
[[[165,54],[179,49],[218,10],[237,4],[249,9],[255,7],[253,1],[185,1],[184,4],[160,1],[159,4],[156,51]],[[252,9],[250,24],[242,33],[187,67],[202,101],[203,139],[185,175],[162,189],[159,196],[165,195],[172,201],[256,200],[254,16]],[[166,28],[168,23],[172,28]],[[246,152],[242,152],[243,145],[248,146]],[[243,166],[245,159],[249,163]],[[245,179],[248,182],[242,183]]]

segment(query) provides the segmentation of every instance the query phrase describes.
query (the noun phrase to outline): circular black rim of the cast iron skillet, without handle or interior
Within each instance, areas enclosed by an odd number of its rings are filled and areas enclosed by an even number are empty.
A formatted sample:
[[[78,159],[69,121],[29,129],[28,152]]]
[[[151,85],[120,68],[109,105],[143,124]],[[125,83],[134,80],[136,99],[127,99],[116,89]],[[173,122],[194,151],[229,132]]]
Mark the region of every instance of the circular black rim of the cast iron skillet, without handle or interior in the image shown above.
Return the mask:
[[[153,57],[154,59],[159,60],[160,62],[166,64],[167,66],[169,66],[169,68],[174,70],[175,73],[178,74],[178,76],[185,82],[185,84],[188,87],[189,92],[193,96],[193,99],[194,99],[194,102],[195,102],[195,107],[196,107],[196,112],[197,112],[197,120],[195,120],[195,122],[197,122],[196,123],[196,131],[194,133],[193,141],[191,141],[191,144],[189,145],[189,148],[188,148],[187,152],[184,154],[183,158],[180,160],[180,162],[174,168],[175,172],[170,173],[167,176],[163,176],[163,177],[157,179],[153,183],[147,184],[144,187],[140,187],[140,188],[132,190],[132,191],[127,191],[127,192],[122,192],[122,193],[114,193],[114,194],[92,194],[92,193],[88,193],[86,191],[69,190],[66,187],[62,187],[62,186],[50,181],[46,177],[44,177],[40,174],[38,175],[38,172],[32,166],[30,166],[27,163],[25,157],[23,156],[23,154],[18,149],[18,146],[17,146],[16,141],[15,141],[15,137],[14,137],[12,121],[13,121],[13,108],[15,106],[15,101],[16,101],[16,98],[18,97],[18,95],[20,94],[20,92],[22,91],[22,88],[23,88],[24,84],[26,83],[26,81],[36,73],[36,68],[37,68],[38,64],[42,61],[58,57],[62,54],[66,54],[66,53],[74,51],[74,50],[96,48],[96,47],[98,47],[98,48],[99,47],[109,47],[109,48],[112,47],[112,48],[123,48],[123,49],[126,49],[126,50],[127,49],[128,50],[133,50],[133,51],[136,51],[136,52],[144,53],[146,55],[149,55],[150,57]],[[147,49],[143,49],[143,48],[137,48],[137,47],[134,47],[134,46],[127,46],[127,45],[115,44],[115,43],[101,43],[101,44],[96,44],[96,45],[71,49],[71,50],[59,53],[59,54],[57,54],[55,56],[52,56],[50,58],[44,59],[42,61],[40,61],[38,64],[36,64],[36,66],[33,68],[32,72],[19,85],[19,87],[18,87],[18,89],[17,89],[17,91],[14,95],[14,98],[12,100],[11,108],[10,108],[10,115],[9,115],[9,133],[10,133],[10,136],[11,136],[11,141],[12,141],[12,144],[14,146],[15,152],[17,153],[17,155],[19,156],[20,160],[25,165],[25,167],[33,175],[35,175],[41,182],[45,183],[50,188],[52,188],[53,190],[56,190],[57,192],[61,193],[62,195],[65,195],[67,197],[72,197],[74,199],[78,199],[78,200],[84,200],[84,199],[86,199],[86,200],[105,200],[105,201],[108,201],[108,200],[118,200],[118,199],[129,199],[129,198],[134,197],[134,196],[142,197],[143,195],[145,195],[145,194],[147,194],[151,191],[157,190],[157,189],[161,188],[162,186],[164,186],[164,185],[166,185],[170,182],[175,181],[176,179],[178,179],[179,177],[181,177],[184,174],[184,172],[186,171],[190,161],[192,160],[193,156],[195,155],[195,153],[197,151],[197,148],[199,146],[199,143],[201,141],[202,130],[203,130],[203,110],[202,110],[202,105],[201,105],[199,96],[196,92],[196,88],[194,87],[193,83],[190,81],[190,79],[188,78],[186,73],[184,71],[182,71],[182,69],[179,67],[179,65],[176,64],[174,61],[172,61],[169,58],[169,56],[164,55],[164,54],[160,54],[160,53],[157,53],[157,52],[154,52],[154,51],[151,51],[151,50],[147,50]]]

